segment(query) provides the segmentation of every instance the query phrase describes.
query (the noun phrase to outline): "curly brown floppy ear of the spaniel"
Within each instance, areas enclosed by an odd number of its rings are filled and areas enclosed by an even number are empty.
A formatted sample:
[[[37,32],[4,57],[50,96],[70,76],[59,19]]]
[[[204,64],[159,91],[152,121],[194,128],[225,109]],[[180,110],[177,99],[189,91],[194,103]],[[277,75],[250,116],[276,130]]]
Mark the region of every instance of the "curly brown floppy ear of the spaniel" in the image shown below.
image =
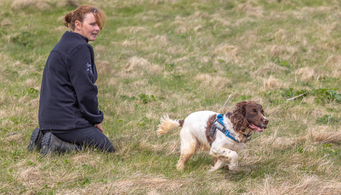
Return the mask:
[[[249,121],[245,118],[246,101],[241,101],[236,104],[236,108],[233,110],[230,117],[231,123],[235,126],[235,131],[243,133],[249,126]]]

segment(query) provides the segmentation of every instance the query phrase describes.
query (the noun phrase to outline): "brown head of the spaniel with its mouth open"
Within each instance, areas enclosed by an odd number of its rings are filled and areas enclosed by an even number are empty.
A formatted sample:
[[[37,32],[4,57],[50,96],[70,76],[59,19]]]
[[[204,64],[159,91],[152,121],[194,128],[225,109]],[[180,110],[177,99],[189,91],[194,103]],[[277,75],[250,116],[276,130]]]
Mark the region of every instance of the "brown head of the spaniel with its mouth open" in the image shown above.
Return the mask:
[[[247,128],[262,133],[269,122],[264,116],[262,105],[254,101],[238,102],[230,120],[235,125],[235,130],[240,133],[244,133]]]

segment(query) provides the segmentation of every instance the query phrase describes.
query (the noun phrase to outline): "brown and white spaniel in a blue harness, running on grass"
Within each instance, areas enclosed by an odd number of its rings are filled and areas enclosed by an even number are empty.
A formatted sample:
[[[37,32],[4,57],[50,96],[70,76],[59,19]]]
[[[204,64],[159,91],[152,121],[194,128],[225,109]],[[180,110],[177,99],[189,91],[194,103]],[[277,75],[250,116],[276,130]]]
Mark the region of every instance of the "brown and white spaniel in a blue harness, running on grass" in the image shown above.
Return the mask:
[[[184,120],[172,120],[168,115],[161,117],[161,124],[157,129],[159,136],[176,127],[182,127],[178,170],[183,170],[195,151],[200,149],[209,150],[213,158],[214,166],[211,166],[209,171],[216,171],[228,162],[225,166],[235,173],[238,166],[238,154],[254,132],[262,133],[269,122],[262,106],[254,101],[238,102],[232,113],[224,114],[223,125],[220,125],[223,130],[212,128],[213,125],[219,126],[216,122],[217,116],[218,113],[213,111],[198,111],[188,115]],[[215,131],[213,131],[214,134],[211,129]],[[228,135],[224,135],[224,132]]]

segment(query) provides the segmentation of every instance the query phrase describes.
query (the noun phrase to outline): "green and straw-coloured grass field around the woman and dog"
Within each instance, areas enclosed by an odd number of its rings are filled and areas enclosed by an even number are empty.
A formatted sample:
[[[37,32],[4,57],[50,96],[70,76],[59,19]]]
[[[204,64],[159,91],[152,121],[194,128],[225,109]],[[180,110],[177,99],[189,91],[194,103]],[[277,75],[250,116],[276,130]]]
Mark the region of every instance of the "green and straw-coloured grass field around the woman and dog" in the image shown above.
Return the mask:
[[[64,16],[81,4],[109,19],[90,44],[104,133],[116,153],[42,157],[27,145],[38,127],[43,69],[69,30]],[[0,194],[341,194],[340,0],[0,5]],[[269,125],[247,143],[237,172],[208,172],[208,152],[177,171],[180,128],[158,137],[160,117],[226,113],[241,100],[260,103]]]

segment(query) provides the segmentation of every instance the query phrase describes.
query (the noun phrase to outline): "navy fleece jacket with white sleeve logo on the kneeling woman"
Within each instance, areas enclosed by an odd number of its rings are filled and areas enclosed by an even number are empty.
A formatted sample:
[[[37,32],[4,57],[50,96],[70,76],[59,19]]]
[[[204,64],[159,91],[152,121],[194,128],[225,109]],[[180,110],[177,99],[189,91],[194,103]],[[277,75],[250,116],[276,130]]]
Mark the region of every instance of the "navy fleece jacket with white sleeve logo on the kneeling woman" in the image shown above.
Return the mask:
[[[88,39],[66,31],[50,52],[39,101],[40,130],[86,128],[103,121],[98,109],[97,71]]]

